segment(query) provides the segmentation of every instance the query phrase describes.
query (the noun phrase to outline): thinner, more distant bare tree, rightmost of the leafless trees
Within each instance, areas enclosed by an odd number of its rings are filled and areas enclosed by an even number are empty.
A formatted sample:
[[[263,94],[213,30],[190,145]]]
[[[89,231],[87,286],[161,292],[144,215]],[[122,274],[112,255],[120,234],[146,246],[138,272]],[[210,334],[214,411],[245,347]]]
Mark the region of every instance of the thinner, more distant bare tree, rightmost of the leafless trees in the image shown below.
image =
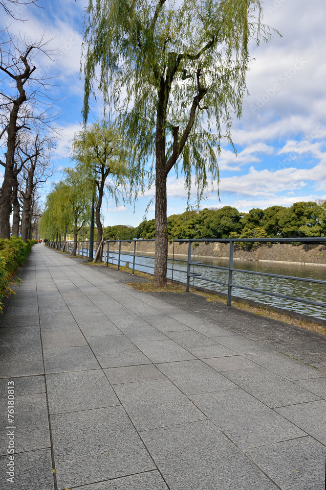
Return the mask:
[[[18,148],[21,161],[24,159],[19,175],[20,197],[22,201],[22,240],[26,242],[30,234],[33,196],[46,180],[53,175],[50,154],[54,147],[53,138],[41,137],[39,133],[30,135],[24,145]]]

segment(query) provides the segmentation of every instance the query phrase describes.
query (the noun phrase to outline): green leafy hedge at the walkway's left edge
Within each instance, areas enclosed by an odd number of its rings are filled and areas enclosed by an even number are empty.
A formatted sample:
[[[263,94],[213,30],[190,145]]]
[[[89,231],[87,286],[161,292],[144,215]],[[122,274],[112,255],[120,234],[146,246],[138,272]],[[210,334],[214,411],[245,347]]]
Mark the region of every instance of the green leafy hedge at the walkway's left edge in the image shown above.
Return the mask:
[[[27,240],[23,242],[21,238],[11,237],[0,239],[0,300],[3,296],[13,293],[10,283],[19,282],[14,276],[15,271],[24,265],[27,255],[32,249],[32,245],[37,240]],[[2,312],[2,303],[0,301],[0,312]]]

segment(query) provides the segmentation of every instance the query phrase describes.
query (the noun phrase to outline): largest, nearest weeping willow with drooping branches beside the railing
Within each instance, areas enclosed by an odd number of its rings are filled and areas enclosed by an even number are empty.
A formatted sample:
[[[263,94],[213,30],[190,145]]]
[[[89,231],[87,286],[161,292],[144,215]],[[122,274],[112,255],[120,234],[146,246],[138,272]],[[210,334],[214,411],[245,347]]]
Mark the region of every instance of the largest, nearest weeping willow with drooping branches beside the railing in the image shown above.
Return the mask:
[[[193,180],[198,201],[209,181],[218,186],[220,143],[232,144],[232,119],[241,116],[250,39],[270,38],[261,15],[259,0],[88,2],[84,121],[99,90],[105,107],[121,111],[134,148],[131,184],[144,182],[152,162],[156,286],[166,284],[168,174],[181,170],[188,200]]]

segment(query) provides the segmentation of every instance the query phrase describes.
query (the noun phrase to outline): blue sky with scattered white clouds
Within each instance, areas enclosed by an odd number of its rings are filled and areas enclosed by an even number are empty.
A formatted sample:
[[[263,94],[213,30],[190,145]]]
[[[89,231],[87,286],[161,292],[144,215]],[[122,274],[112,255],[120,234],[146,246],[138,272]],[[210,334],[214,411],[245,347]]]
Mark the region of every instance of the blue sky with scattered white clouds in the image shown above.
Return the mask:
[[[49,49],[58,49],[57,61],[38,58],[39,70],[55,76],[51,97],[60,113],[56,126],[61,137],[53,154],[60,171],[72,165],[69,144],[81,129],[83,80],[79,77],[82,24],[87,0],[40,0],[19,6],[16,21],[1,15],[0,25],[32,39],[42,35]],[[231,130],[237,155],[222,146],[218,160],[219,196],[205,193],[201,208],[234,206],[240,212],[275,204],[291,206],[297,201],[326,199],[326,8],[325,0],[267,0],[263,4],[264,23],[277,29],[269,43],[250,49],[247,73],[249,95],[243,102],[240,120]],[[92,105],[90,122],[101,114],[101,100]],[[43,194],[48,192],[45,188]],[[168,216],[182,213],[187,205],[184,181],[168,177]],[[139,196],[135,206],[104,202],[104,225],[136,226],[144,216],[155,189]],[[196,188],[192,195],[196,198]],[[154,218],[154,203],[147,219]]]

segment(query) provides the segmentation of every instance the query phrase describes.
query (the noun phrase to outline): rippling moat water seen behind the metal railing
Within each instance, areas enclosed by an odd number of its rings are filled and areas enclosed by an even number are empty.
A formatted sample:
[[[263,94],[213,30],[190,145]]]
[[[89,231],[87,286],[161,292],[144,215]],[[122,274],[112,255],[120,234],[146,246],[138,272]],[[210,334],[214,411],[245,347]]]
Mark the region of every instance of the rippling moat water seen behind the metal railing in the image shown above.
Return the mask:
[[[110,256],[113,253],[110,250]],[[144,254],[146,255],[146,254]],[[118,257],[118,253],[114,252],[114,257]],[[181,258],[178,256],[178,258]],[[186,257],[182,257],[186,258]],[[195,260],[201,261],[203,264],[228,267],[229,261],[227,259],[221,258],[207,258],[207,257],[196,257]],[[124,265],[125,261],[130,262],[130,267],[132,264],[132,255],[128,253],[121,254],[121,261]],[[142,270],[144,272],[153,273],[153,269],[146,266],[154,265],[154,257],[144,257],[141,253],[137,253],[136,263],[140,265],[135,265],[135,269]],[[112,259],[109,259],[112,262]],[[114,260],[116,264],[117,261]],[[168,268],[172,268],[172,259],[168,260]],[[186,281],[186,270],[187,263],[179,262],[174,259],[174,268],[182,270],[184,272],[175,271],[173,277],[175,280],[185,282]],[[290,263],[275,263],[275,262],[261,262],[261,261],[243,261],[239,259],[234,259],[234,268],[241,270],[254,270],[258,272],[267,272],[269,274],[279,274],[287,276],[305,277],[309,279],[326,280],[326,267],[325,266],[308,266],[304,264],[290,264]],[[192,271],[202,274],[202,277],[207,279],[213,279],[215,281],[228,281],[228,271],[209,269],[206,267],[192,266]],[[168,278],[172,277],[172,270],[168,270]],[[203,281],[199,278],[192,278],[191,283],[194,286],[200,286],[208,289],[213,289],[214,291],[219,291],[221,293],[227,293],[226,286],[219,284],[210,283]],[[254,289],[260,289],[263,291],[268,291],[270,293],[285,294],[287,296],[295,296],[303,298],[310,301],[316,302],[326,302],[326,285],[324,284],[313,284],[308,282],[293,281],[287,279],[280,279],[277,277],[264,277],[254,274],[246,274],[241,272],[233,273],[233,283],[239,286],[245,286]],[[244,291],[241,289],[234,288],[233,294],[235,296],[240,296],[245,299],[252,299],[254,301],[260,301],[261,303],[266,303],[271,306],[277,306],[279,308],[285,308],[287,310],[293,310],[299,313],[304,313],[305,315],[312,315],[314,317],[326,319],[326,308],[306,305],[299,303],[297,301],[292,301],[283,298],[276,298],[271,296],[266,296],[260,293],[253,293],[250,291]]]

